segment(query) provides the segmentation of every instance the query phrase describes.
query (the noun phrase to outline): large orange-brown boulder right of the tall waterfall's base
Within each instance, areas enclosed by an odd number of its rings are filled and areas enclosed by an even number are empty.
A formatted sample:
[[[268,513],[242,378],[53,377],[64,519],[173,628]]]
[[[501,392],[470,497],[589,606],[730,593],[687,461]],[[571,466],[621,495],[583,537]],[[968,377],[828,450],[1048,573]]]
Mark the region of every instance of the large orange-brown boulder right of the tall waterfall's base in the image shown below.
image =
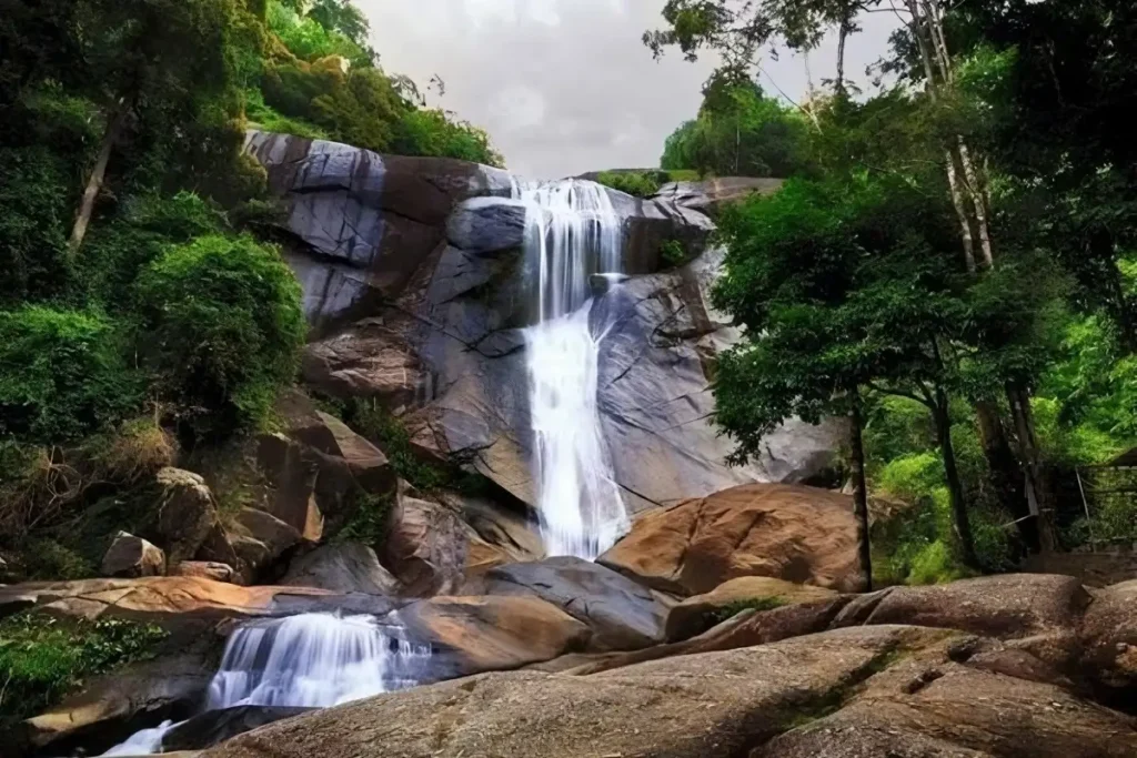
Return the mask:
[[[739,576],[855,591],[863,584],[852,499],[750,484],[647,513],[599,563],[684,595]]]

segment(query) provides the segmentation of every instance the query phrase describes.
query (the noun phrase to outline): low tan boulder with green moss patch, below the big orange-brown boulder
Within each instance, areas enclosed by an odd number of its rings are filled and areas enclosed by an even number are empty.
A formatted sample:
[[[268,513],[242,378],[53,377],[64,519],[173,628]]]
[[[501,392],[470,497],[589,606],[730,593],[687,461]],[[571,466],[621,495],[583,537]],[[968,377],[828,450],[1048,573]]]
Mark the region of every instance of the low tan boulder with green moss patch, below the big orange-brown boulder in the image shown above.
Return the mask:
[[[666,636],[670,642],[702,634],[721,620],[723,613],[757,607],[790,606],[831,600],[837,592],[808,584],[794,584],[769,576],[740,576],[716,586],[711,592],[687,598],[667,614]]]

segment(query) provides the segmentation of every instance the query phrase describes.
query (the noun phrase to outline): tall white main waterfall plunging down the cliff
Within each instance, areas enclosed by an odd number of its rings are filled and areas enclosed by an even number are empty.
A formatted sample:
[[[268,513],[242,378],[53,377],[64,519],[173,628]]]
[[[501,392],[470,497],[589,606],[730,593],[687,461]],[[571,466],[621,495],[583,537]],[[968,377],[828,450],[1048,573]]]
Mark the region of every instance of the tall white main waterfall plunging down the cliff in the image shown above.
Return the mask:
[[[628,530],[597,408],[599,345],[589,278],[619,274],[622,230],[607,191],[563,180],[514,184],[525,257],[537,274],[537,324],[525,330],[534,480],[550,556],[595,559]]]

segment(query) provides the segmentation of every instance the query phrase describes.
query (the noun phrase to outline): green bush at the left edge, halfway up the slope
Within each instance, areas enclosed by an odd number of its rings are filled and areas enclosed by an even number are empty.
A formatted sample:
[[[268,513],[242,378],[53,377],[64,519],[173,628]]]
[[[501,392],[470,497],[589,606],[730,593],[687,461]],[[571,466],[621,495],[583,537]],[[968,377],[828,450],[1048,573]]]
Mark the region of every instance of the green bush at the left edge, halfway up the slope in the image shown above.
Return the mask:
[[[90,311],[0,311],[0,435],[56,444],[117,423],[139,391],[116,325]]]

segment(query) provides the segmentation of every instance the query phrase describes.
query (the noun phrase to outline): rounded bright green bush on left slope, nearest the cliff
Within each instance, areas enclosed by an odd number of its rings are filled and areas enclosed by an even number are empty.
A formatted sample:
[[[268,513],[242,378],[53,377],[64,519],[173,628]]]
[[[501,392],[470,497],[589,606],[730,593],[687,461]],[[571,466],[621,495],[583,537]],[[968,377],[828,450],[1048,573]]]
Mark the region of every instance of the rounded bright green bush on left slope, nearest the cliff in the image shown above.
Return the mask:
[[[169,248],[139,278],[140,348],[191,438],[264,420],[304,344],[300,285],[272,248],[207,235]]]

